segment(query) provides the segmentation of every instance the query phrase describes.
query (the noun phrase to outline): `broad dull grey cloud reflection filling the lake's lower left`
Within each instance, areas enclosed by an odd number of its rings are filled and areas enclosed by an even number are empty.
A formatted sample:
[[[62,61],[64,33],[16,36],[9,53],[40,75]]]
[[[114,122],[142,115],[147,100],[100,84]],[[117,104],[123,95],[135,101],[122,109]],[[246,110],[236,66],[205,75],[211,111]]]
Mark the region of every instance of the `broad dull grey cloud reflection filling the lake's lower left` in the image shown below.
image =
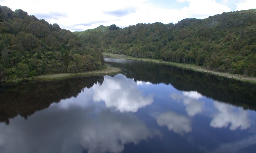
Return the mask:
[[[51,107],[36,112],[26,122],[17,117],[9,125],[1,123],[0,152],[69,153],[84,149],[89,153],[118,153],[125,144],[136,145],[148,138],[161,137],[160,131],[147,128],[133,115],[95,111]]]

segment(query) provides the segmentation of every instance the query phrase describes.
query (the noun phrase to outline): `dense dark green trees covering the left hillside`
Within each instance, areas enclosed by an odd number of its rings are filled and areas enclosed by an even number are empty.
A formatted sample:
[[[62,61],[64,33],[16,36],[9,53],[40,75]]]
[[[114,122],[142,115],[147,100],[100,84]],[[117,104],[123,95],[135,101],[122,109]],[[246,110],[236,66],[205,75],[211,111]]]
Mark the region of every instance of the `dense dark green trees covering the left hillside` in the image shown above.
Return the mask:
[[[56,23],[0,6],[0,80],[77,73],[104,67],[101,50]]]

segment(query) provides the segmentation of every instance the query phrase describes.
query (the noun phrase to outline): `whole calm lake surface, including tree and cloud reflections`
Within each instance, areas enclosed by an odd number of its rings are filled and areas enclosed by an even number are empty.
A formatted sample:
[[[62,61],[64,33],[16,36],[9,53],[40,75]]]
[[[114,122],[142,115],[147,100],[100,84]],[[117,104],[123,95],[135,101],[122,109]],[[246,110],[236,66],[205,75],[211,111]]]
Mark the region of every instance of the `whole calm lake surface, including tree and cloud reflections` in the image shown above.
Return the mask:
[[[256,85],[140,61],[0,87],[0,152],[255,152]]]

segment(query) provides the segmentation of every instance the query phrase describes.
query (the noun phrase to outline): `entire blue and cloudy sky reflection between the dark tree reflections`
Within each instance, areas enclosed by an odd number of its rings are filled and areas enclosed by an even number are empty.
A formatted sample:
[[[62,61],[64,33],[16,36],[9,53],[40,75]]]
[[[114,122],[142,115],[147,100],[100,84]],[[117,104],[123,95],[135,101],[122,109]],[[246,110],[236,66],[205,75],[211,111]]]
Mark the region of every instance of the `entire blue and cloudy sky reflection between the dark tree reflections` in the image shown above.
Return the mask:
[[[0,152],[250,152],[255,121],[255,111],[118,74],[0,123]]]

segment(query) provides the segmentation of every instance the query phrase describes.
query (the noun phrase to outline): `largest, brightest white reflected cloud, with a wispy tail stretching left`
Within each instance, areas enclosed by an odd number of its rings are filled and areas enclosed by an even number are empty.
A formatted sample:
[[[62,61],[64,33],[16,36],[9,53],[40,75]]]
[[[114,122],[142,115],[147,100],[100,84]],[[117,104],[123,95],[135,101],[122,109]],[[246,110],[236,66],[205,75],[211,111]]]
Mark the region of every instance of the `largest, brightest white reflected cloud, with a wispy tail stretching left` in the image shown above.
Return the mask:
[[[93,105],[91,97],[96,102],[104,101],[106,107],[114,108],[121,112],[136,112],[139,108],[145,107],[153,102],[153,96],[145,96],[138,89],[138,85],[149,85],[149,82],[126,79],[123,75],[106,76],[102,86],[94,85],[90,89],[83,90],[76,98],[61,100],[59,103],[53,103],[52,106],[58,106],[61,109],[70,109],[70,107],[88,108]],[[117,81],[116,81],[117,80]]]

